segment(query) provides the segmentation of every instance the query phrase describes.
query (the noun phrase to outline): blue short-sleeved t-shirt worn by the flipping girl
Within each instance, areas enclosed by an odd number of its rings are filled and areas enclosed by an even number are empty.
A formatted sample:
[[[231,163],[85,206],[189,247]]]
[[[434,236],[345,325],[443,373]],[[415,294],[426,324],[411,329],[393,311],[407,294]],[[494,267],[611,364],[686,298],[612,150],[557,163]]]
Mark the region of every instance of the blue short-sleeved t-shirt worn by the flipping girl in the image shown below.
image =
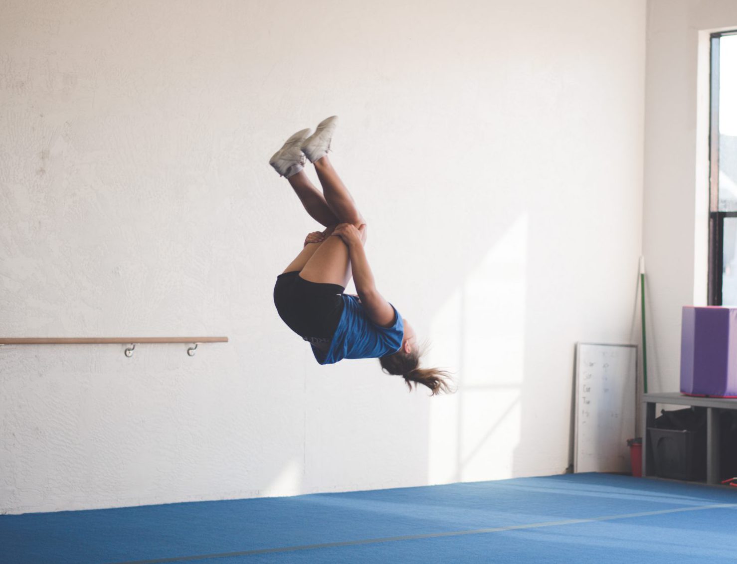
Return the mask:
[[[327,352],[312,347],[312,353],[320,364],[333,364],[343,359],[377,359],[396,353],[402,346],[405,326],[402,316],[394,306],[394,325],[382,327],[366,315],[356,296],[343,294],[343,314],[332,336]]]

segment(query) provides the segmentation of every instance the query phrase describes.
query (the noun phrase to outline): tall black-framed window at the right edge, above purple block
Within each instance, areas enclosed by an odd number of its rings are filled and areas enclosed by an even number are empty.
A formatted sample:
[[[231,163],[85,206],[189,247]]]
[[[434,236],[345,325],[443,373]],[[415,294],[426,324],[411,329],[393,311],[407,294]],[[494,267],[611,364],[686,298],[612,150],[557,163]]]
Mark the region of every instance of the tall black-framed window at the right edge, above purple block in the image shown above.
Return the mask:
[[[709,303],[737,306],[737,30],[711,35]]]

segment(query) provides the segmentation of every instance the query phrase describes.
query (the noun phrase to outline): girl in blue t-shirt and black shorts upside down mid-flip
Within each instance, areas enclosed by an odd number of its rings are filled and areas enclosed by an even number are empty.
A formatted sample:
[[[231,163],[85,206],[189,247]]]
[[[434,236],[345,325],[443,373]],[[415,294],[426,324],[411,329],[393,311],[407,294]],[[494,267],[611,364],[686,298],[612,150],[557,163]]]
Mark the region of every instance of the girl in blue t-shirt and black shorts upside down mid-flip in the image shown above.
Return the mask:
[[[363,250],[366,222],[327,158],[338,117],[315,133],[292,135],[269,164],[286,177],[307,213],[326,227],[307,235],[301,253],[276,278],[274,303],[287,326],[312,345],[320,364],[378,358],[385,373],[423,384],[433,395],[449,392],[449,374],[420,368],[417,336],[397,309],[377,291]],[[304,157],[315,165],[319,191],[304,173]],[[357,296],[346,295],[354,278]]]

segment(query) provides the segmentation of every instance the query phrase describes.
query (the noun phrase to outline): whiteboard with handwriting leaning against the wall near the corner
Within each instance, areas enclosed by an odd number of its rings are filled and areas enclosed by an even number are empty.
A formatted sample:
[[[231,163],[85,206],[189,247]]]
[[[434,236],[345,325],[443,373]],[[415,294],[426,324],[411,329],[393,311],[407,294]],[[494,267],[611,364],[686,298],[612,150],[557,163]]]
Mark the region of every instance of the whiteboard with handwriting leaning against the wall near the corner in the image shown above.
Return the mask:
[[[637,345],[576,343],[574,472],[631,470],[637,362]]]

